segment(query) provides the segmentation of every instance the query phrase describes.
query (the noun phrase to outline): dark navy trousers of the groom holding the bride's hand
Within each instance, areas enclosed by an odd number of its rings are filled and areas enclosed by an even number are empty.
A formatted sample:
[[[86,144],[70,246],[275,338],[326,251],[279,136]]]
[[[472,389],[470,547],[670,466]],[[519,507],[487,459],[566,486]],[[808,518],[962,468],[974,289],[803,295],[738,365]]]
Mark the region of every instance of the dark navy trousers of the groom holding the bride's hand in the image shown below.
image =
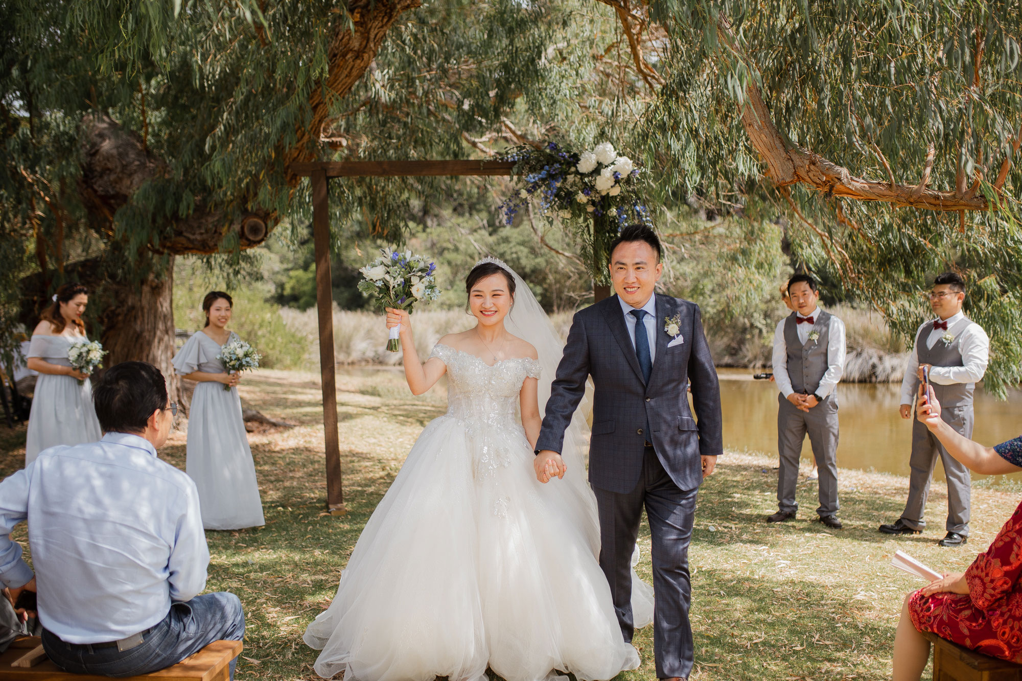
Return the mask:
[[[639,536],[643,508],[653,540],[653,651],[656,676],[687,678],[692,671],[692,627],[689,603],[689,540],[696,510],[694,490],[679,489],[663,469],[652,447],[646,447],[636,489],[618,494],[593,488],[600,510],[600,568],[624,640],[635,631],[632,618],[632,553]]]

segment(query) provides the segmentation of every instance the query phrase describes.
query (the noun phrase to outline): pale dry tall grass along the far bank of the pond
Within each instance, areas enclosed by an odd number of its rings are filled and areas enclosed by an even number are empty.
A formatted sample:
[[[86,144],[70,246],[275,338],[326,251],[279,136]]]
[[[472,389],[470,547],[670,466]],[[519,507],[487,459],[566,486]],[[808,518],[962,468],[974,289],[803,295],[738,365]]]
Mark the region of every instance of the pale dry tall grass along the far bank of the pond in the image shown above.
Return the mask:
[[[865,310],[840,306],[833,308],[831,312],[844,321],[847,333],[848,355],[843,380],[848,382],[901,380],[905,360],[904,346],[890,331],[883,317]],[[562,338],[567,337],[571,316],[570,312],[551,315],[551,321]],[[316,310],[299,312],[284,308],[279,311],[279,317],[291,333],[306,339],[304,353],[306,366],[310,368],[317,366],[319,355],[316,338],[319,337],[319,326]],[[472,318],[460,310],[416,312],[412,315],[412,328],[415,331],[415,349],[419,357],[425,359],[440,336],[464,331],[473,324]],[[334,307],[333,347],[338,364],[401,364],[401,353],[386,351],[386,324],[382,315],[339,310]],[[714,352],[714,357],[725,366],[762,366],[769,364],[772,340],[773,335],[768,337],[764,334],[759,340],[762,347],[747,357],[729,357],[717,352]],[[256,338],[254,342],[260,343],[260,339]],[[734,339],[728,343],[726,339],[710,338],[710,346],[714,351],[729,345],[737,347],[740,344]],[[296,351],[294,355],[297,355]]]

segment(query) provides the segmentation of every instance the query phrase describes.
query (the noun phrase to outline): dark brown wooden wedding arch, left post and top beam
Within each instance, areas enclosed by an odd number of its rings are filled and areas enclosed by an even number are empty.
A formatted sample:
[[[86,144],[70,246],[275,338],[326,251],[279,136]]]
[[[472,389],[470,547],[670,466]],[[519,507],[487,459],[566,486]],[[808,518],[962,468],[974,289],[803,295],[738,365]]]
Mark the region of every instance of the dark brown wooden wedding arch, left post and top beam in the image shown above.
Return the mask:
[[[337,430],[336,360],[333,354],[333,290],[330,286],[330,179],[336,177],[421,177],[427,175],[505,175],[504,161],[342,161],[294,164],[292,173],[308,177],[313,188],[313,240],[316,244],[316,308],[319,313],[320,373],[323,387],[323,430],[326,449],[326,503],[344,513],[341,489],[340,437]]]

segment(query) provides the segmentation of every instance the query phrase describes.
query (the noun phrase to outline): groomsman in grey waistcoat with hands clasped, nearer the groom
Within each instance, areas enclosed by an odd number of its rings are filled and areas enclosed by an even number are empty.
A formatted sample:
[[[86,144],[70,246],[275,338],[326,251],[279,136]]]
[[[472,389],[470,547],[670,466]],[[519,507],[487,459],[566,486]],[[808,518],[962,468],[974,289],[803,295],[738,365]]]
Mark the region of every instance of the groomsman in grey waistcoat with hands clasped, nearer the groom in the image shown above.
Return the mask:
[[[844,322],[817,305],[820,291],[807,274],[788,281],[794,312],[774,333],[774,379],[781,394],[777,413],[777,446],[781,467],[777,481],[778,511],[768,523],[795,517],[798,459],[809,436],[820,475],[820,521],[841,529],[837,517],[837,394],[844,373]]]

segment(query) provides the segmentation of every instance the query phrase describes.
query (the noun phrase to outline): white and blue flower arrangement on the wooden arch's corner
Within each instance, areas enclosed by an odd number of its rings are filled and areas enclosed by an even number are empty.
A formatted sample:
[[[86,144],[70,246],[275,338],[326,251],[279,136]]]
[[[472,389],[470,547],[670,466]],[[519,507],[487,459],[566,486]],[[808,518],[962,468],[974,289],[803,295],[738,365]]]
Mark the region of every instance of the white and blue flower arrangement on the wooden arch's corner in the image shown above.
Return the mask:
[[[515,162],[514,177],[523,181],[501,205],[507,224],[523,206],[538,202],[543,215],[568,225],[593,280],[609,284],[608,249],[620,228],[637,222],[652,227],[642,197],[643,170],[610,142],[582,152],[556,142],[522,145],[504,158]]]

